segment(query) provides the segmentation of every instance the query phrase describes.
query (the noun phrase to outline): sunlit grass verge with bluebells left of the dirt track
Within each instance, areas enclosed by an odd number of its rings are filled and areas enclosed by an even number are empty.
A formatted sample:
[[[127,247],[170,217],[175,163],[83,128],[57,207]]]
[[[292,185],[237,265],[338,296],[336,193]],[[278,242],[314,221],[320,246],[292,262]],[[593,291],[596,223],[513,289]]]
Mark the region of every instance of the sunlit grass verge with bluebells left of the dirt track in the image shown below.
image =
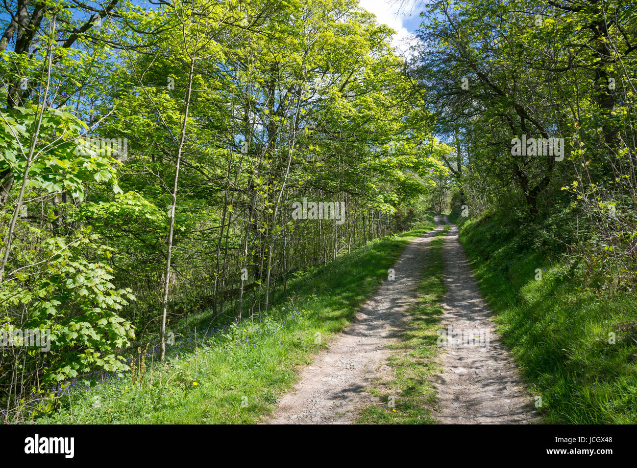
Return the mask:
[[[420,223],[299,273],[260,317],[210,330],[213,312],[191,315],[188,326],[173,326],[183,340],[168,347],[166,361],[146,358],[141,384],[127,373],[67,390],[59,409],[36,422],[255,423],[292,388],[298,366],[350,324],[404,247],[433,227],[431,220]]]

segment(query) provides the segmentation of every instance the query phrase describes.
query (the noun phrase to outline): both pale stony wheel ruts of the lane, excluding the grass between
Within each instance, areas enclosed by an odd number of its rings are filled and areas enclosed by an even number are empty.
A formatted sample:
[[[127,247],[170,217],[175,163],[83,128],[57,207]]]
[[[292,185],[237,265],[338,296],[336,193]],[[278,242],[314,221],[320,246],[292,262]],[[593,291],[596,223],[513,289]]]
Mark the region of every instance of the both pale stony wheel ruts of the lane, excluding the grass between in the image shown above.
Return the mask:
[[[357,313],[354,324],[303,369],[296,390],[282,397],[264,423],[352,423],[372,403],[369,383],[392,378],[386,364],[387,346],[406,326],[404,312],[417,298],[427,245],[440,231],[440,219],[436,216],[435,230],[406,247],[394,265],[396,279],[385,280]],[[444,219],[450,224],[447,216]],[[530,422],[535,416],[532,399],[497,338],[457,232],[452,224],[443,247],[447,295],[441,328],[474,332],[478,344],[482,337],[482,345],[451,346],[441,353],[443,371],[436,383],[440,404],[433,415],[441,423]],[[476,329],[481,331],[475,333]]]

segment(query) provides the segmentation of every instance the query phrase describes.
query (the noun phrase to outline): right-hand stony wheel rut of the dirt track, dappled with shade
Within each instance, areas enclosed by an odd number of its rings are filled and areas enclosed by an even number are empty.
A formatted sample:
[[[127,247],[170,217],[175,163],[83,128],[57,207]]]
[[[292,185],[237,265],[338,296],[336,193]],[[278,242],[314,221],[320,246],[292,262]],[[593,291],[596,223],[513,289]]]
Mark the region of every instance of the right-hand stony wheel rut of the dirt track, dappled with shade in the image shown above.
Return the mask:
[[[499,341],[454,224],[445,236],[443,258],[447,295],[441,328],[455,345],[441,355],[443,371],[436,383],[440,411],[434,416],[441,423],[531,422],[536,418],[533,399]]]

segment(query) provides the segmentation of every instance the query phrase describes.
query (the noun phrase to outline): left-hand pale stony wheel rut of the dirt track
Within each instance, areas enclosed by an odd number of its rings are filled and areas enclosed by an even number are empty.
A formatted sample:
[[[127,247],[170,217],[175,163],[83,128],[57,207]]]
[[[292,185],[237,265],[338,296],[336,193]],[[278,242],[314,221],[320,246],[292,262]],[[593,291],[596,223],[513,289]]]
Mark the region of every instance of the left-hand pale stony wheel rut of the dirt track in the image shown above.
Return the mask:
[[[385,364],[390,354],[387,345],[404,329],[404,312],[417,297],[426,247],[441,229],[439,218],[438,228],[404,249],[393,267],[394,281],[383,281],[356,314],[354,324],[303,369],[296,391],[283,396],[266,423],[351,423],[360,409],[369,406],[369,382],[391,373]]]

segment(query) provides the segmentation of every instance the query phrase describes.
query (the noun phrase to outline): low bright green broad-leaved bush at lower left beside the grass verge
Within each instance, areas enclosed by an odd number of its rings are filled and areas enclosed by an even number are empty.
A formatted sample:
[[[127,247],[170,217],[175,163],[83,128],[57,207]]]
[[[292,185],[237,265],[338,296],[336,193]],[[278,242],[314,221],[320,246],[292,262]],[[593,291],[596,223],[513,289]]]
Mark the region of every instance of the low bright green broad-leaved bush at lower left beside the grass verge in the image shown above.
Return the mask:
[[[134,338],[134,327],[117,311],[134,296],[131,289],[116,289],[110,282],[110,266],[84,258],[86,251],[110,257],[110,249],[96,240],[96,235],[87,232],[78,233],[72,242],[47,238],[32,251],[42,260],[33,259],[34,266],[16,272],[16,280],[0,289],[0,303],[6,311],[0,319],[3,330],[15,329],[18,317],[13,314],[22,311],[27,317],[18,322],[22,329],[49,333],[50,350],[43,357],[39,378],[43,385],[95,370],[127,369],[116,350]],[[44,268],[38,266],[42,263],[46,263]],[[3,361],[10,356],[10,350],[3,349]],[[37,352],[29,353],[31,359],[39,361]],[[25,361],[21,365],[29,369],[36,364]]]

